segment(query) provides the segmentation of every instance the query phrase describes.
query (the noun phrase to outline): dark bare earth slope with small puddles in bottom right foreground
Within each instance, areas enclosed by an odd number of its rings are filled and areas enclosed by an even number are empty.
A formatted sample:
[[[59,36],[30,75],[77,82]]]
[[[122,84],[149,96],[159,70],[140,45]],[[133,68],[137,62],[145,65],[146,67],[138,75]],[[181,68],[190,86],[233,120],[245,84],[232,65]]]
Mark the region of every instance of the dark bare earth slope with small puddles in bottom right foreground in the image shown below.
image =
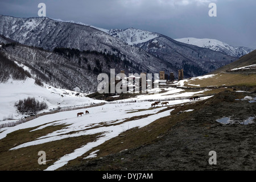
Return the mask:
[[[256,102],[241,100],[256,94],[222,92],[196,104],[180,106],[171,119],[194,109],[188,117],[160,135],[151,144],[86,160],[66,170],[252,170],[256,165],[256,125],[239,122],[256,116]],[[216,121],[230,117],[235,123]],[[215,151],[217,164],[209,164],[210,151]]]

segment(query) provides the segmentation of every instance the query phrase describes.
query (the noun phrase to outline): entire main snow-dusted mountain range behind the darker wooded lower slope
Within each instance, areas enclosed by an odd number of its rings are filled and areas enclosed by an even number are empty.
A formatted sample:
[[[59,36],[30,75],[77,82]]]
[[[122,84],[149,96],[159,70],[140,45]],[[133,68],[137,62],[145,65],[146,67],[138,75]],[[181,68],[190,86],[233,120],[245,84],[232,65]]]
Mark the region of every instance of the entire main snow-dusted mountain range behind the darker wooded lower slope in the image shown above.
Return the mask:
[[[0,23],[2,24],[0,34],[16,42],[42,47],[48,51],[56,47],[65,47],[114,54],[132,63],[139,72],[166,71],[167,74],[174,72],[177,77],[177,70],[183,68],[185,77],[191,77],[203,75],[236,60],[220,52],[195,48],[164,35],[151,34],[135,28],[122,31],[111,30],[106,33],[106,30],[101,31],[98,30],[100,28],[85,26],[81,23],[10,16],[0,16]],[[158,47],[155,42],[152,42],[158,39],[164,39],[163,47]],[[127,42],[137,44],[132,46]],[[184,50],[186,51],[183,52]]]

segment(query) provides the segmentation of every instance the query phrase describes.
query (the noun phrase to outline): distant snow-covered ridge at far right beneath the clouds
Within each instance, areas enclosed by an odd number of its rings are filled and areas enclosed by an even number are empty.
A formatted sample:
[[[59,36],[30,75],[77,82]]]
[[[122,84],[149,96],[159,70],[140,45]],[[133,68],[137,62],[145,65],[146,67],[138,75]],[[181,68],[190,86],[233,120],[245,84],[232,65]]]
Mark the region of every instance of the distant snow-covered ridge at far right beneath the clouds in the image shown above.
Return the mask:
[[[226,53],[233,57],[241,57],[253,51],[253,49],[247,47],[230,46],[229,44],[216,39],[181,38],[175,40],[185,44],[191,44],[198,47],[212,49],[213,51]]]

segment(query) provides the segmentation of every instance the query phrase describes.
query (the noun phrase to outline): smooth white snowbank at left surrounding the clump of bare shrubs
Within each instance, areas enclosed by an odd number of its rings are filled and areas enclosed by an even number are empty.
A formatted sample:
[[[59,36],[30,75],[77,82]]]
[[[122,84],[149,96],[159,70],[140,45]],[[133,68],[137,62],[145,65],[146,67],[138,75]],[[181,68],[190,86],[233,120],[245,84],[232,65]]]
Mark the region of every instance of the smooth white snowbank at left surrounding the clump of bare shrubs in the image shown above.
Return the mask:
[[[63,108],[102,102],[85,97],[85,94],[80,94],[77,97],[75,96],[76,92],[53,88],[49,85],[42,87],[35,85],[34,82],[33,78],[27,78],[25,81],[9,80],[0,84],[0,124],[5,122],[1,121],[3,118],[11,116],[13,119],[19,119],[23,117],[24,115],[16,112],[14,104],[28,97],[35,97],[40,102],[46,102],[48,109],[43,111],[56,109],[58,106]]]

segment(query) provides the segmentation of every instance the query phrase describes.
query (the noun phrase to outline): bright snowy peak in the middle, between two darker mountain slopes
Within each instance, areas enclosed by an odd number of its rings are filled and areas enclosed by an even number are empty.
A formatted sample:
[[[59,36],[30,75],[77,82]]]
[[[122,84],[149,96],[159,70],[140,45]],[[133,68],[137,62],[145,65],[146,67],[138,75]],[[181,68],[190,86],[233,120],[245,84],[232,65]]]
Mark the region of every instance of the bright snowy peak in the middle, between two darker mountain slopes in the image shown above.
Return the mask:
[[[157,38],[159,36],[159,34],[154,32],[139,30],[137,28],[127,28],[125,30],[111,29],[109,30],[109,34],[114,38],[120,39],[132,46],[147,42],[148,40]]]

